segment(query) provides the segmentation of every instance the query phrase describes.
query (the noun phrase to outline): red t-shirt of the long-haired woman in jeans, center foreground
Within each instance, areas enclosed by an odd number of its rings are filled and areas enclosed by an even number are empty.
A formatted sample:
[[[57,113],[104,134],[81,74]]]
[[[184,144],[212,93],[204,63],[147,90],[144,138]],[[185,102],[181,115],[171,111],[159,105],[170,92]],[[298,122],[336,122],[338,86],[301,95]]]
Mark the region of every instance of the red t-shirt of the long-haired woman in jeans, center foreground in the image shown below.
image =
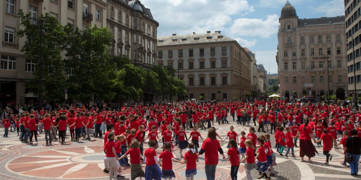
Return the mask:
[[[218,164],[218,149],[221,148],[217,139],[207,138],[203,141],[201,149],[204,150],[204,159],[206,165]]]

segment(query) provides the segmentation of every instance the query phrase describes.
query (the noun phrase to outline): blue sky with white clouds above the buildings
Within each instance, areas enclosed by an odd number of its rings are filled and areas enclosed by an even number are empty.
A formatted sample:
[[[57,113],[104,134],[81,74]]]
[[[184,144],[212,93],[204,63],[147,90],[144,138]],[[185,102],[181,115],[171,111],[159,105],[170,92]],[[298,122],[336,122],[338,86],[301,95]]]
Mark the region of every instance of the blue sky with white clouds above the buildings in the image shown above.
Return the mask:
[[[221,31],[277,73],[279,17],[287,0],[140,0],[159,23],[158,37]],[[344,15],[343,0],[289,0],[299,18]],[[327,7],[327,8],[326,8]]]

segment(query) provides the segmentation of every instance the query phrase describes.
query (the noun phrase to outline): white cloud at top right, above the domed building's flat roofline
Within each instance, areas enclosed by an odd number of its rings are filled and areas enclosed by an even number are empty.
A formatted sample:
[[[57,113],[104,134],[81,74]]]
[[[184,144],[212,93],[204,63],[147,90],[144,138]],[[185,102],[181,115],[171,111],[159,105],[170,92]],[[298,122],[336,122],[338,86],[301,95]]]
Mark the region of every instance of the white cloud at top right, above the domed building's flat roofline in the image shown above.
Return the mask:
[[[343,3],[343,0],[333,0],[322,5],[327,8],[312,7],[311,9],[317,13],[323,13],[327,17],[345,15]]]

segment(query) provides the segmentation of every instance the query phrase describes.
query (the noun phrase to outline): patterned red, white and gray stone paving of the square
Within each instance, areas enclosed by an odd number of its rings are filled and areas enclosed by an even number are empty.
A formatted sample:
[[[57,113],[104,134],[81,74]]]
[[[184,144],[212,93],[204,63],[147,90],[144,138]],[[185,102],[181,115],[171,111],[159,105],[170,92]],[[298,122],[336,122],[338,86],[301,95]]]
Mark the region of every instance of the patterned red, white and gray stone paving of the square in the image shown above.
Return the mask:
[[[229,131],[229,125],[235,127],[235,131],[240,134],[241,131],[248,133],[249,126],[240,126],[231,120],[228,116],[229,124],[216,125],[217,133],[221,138],[224,138]],[[217,123],[218,124],[218,123]],[[251,123],[252,124],[252,123]],[[255,127],[257,128],[257,127]],[[187,130],[187,134],[191,132]],[[201,130],[203,138],[206,137],[206,132]],[[4,133],[4,129],[0,130],[0,134]],[[68,132],[69,134],[69,132]],[[264,133],[256,132],[257,135]],[[18,140],[16,132],[9,132],[9,138],[0,138],[0,180],[11,179],[29,179],[29,180],[48,180],[48,179],[109,179],[109,175],[103,173],[103,140],[93,139],[92,141],[70,142],[70,137],[67,136],[66,144],[61,145],[53,141],[52,146],[45,146],[44,134],[38,138],[39,143],[32,145],[21,143]],[[221,142],[223,151],[227,152],[227,143]],[[274,146],[274,135],[271,134],[271,143]],[[200,140],[200,145],[202,141]],[[144,149],[148,147],[144,143]],[[275,151],[274,147],[273,150]],[[322,152],[322,148],[317,148]],[[157,154],[161,153],[157,149]],[[184,152],[183,152],[184,153]],[[323,179],[359,179],[361,177],[353,177],[349,175],[349,168],[341,165],[343,161],[343,154],[340,149],[332,149],[331,154],[334,158],[329,165],[323,164],[325,156],[323,154],[316,155],[313,158],[313,163],[301,163],[299,158],[299,148],[295,148],[296,158],[285,158],[279,156],[277,153],[277,166],[274,166],[275,176],[272,179],[277,180],[323,180]],[[173,151],[174,157],[180,159],[179,149],[175,148]],[[205,180],[204,173],[204,156],[200,156],[200,161],[197,163],[197,172],[195,176],[197,180]],[[222,156],[218,156],[219,163],[217,166],[216,179],[230,180],[230,163],[223,161]],[[239,168],[238,179],[246,179],[243,163]],[[144,167],[145,165],[143,165]],[[173,163],[173,170],[178,179],[186,179],[185,165]],[[143,168],[144,169],[144,168]],[[130,179],[130,167],[122,168],[122,174],[125,175],[123,179]],[[252,172],[253,179],[257,179],[258,172]]]

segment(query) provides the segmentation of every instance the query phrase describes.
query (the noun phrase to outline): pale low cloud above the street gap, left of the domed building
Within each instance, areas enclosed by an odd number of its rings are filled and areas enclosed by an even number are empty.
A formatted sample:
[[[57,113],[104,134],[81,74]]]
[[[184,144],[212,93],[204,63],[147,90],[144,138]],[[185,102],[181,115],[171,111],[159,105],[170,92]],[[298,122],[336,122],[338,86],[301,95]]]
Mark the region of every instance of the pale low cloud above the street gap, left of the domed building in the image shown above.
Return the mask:
[[[273,74],[278,73],[277,62],[276,62],[276,53],[277,50],[270,51],[255,51],[257,64],[263,64],[267,72]]]

